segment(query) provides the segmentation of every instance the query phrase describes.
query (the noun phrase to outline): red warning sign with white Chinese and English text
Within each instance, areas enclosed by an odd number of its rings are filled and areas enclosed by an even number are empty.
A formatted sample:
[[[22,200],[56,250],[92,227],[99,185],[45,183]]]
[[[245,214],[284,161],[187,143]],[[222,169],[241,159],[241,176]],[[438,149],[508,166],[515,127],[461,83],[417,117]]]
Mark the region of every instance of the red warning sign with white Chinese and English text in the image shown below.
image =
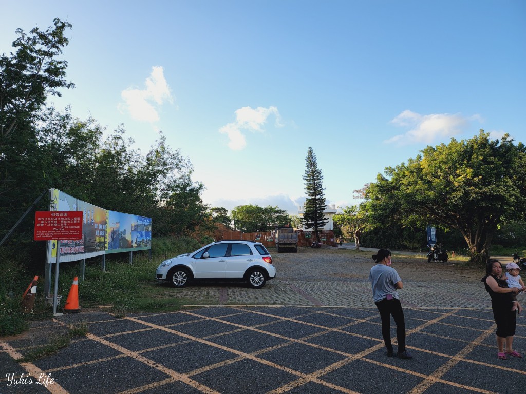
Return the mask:
[[[36,212],[34,239],[35,241],[81,240],[82,212]]]

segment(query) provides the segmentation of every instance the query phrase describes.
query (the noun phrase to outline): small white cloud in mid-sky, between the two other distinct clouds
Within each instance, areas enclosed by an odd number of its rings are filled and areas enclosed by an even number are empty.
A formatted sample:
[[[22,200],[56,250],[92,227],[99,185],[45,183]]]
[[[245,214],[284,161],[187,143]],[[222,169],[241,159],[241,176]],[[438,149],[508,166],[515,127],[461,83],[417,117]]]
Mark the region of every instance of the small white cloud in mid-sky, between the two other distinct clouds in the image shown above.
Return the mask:
[[[263,132],[262,126],[267,123],[267,119],[270,115],[276,117],[275,126],[282,127],[281,116],[279,115],[278,108],[270,106],[269,108],[258,107],[256,109],[250,107],[242,107],[236,110],[236,120],[227,125],[222,126],[219,132],[227,134],[229,139],[228,147],[232,150],[244,149],[247,145],[245,134],[242,130],[248,130],[251,132]]]

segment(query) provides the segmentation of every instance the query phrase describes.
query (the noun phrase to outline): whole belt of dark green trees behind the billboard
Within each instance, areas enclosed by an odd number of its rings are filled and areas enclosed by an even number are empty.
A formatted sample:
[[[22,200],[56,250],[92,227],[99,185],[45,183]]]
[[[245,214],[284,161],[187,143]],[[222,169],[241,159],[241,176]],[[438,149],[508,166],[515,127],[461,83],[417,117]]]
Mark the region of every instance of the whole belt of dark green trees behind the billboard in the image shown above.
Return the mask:
[[[0,57],[0,234],[49,188],[105,209],[150,216],[156,235],[193,232],[207,219],[204,186],[191,180],[190,161],[171,150],[162,134],[141,152],[132,149],[122,125],[103,139],[105,129],[93,118],[45,108],[49,95],[73,87],[65,80],[67,62],[58,59],[70,27],[55,19],[44,32],[19,29],[16,54]],[[45,210],[47,202],[43,198],[37,209]],[[16,236],[14,244],[37,249],[31,220]]]

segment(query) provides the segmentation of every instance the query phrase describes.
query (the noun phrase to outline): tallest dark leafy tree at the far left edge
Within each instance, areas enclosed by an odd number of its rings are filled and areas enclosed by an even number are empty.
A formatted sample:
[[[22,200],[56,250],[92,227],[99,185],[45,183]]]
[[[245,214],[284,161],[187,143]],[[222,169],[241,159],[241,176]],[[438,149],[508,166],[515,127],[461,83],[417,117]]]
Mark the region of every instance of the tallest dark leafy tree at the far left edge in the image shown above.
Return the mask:
[[[17,29],[16,53],[0,56],[1,234],[53,183],[53,160],[36,125],[45,121],[41,110],[47,96],[60,96],[59,88],[73,87],[65,80],[67,63],[58,59],[68,44],[64,34],[70,27],[55,19],[54,27],[45,32],[34,28],[26,35]],[[43,209],[45,201],[42,199],[37,209]],[[17,232],[19,244],[33,242],[29,221]]]

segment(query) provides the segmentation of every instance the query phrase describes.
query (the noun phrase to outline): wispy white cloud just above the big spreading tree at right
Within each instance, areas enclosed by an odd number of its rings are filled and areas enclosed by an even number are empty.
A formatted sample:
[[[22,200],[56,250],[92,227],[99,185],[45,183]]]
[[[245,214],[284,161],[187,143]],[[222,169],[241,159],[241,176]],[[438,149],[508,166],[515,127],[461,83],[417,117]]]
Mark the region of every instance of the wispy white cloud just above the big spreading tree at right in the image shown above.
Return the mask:
[[[469,127],[469,121],[480,121],[479,115],[470,118],[463,117],[460,113],[431,113],[430,115],[420,115],[419,113],[405,110],[395,119],[391,120],[400,127],[411,128],[405,134],[399,134],[383,142],[400,144],[412,142],[430,143],[436,139],[450,138],[461,134]]]

